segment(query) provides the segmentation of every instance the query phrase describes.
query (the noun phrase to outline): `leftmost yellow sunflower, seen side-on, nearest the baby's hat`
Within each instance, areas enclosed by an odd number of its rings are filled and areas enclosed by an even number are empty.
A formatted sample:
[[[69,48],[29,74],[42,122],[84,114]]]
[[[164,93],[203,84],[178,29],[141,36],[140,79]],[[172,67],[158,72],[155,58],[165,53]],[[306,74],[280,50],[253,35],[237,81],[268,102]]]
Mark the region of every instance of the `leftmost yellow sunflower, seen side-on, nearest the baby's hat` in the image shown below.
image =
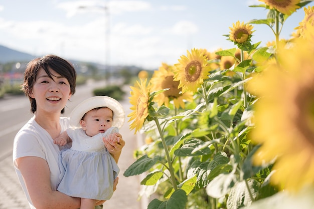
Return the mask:
[[[130,124],[130,130],[135,128],[135,133],[143,126],[147,116],[148,116],[148,106],[149,106],[149,84],[146,86],[146,79],[141,80],[140,83],[136,81],[137,86],[131,88],[130,104],[133,105],[130,109],[133,110],[128,117],[129,121],[133,122]]]

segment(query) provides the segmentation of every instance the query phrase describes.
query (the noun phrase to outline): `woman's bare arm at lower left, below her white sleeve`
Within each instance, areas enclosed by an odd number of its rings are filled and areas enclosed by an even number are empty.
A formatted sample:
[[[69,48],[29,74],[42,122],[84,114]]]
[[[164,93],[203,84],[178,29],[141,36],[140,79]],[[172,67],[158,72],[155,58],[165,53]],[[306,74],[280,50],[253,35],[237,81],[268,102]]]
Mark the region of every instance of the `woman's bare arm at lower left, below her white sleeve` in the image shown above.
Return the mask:
[[[70,197],[54,191],[50,183],[50,169],[46,160],[40,157],[21,157],[16,159],[31,200],[37,209],[80,207],[80,198]]]

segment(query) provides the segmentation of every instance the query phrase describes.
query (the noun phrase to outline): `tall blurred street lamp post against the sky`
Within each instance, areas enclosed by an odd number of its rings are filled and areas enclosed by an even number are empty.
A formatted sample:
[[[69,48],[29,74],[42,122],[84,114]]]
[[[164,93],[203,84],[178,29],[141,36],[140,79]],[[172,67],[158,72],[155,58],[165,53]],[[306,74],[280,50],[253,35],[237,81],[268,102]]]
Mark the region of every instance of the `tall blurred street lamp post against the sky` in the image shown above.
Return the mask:
[[[78,9],[89,9],[89,8],[97,8],[105,11],[105,82],[106,85],[109,83],[110,77],[110,25],[109,25],[109,8],[108,3],[105,1],[105,6],[79,6]]]

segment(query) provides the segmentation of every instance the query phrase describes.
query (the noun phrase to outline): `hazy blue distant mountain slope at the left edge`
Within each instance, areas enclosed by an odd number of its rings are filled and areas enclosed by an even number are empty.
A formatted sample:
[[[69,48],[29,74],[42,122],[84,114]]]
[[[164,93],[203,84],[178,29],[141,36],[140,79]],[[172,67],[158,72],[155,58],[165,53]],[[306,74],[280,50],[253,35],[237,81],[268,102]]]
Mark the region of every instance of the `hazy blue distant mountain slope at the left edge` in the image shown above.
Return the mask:
[[[0,63],[30,61],[35,57],[0,45]]]

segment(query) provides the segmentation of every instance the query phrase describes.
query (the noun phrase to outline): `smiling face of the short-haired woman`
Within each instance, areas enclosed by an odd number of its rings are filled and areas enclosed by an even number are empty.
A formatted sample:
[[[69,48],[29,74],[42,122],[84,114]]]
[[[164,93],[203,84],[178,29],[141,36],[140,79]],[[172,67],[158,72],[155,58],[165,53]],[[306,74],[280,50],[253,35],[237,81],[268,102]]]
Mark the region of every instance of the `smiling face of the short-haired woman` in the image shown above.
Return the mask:
[[[30,97],[36,100],[37,113],[60,113],[72,95],[68,80],[52,69],[49,71],[53,79],[40,68],[30,93]]]

